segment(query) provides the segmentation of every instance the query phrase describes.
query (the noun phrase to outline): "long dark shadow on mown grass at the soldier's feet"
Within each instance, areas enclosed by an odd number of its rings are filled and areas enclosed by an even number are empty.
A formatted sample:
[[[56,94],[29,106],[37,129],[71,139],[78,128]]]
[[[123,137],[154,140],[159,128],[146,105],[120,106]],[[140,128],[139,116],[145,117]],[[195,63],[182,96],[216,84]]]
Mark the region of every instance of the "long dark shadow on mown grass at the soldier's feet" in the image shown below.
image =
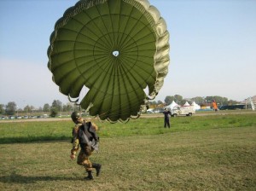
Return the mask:
[[[85,177],[85,174],[84,174]],[[12,174],[9,176],[3,176],[0,177],[0,182],[3,183],[35,183],[38,181],[84,181],[84,177],[76,177],[76,176],[70,176],[70,177],[54,177],[54,176],[38,176],[38,177],[29,177],[29,176],[22,176],[18,174]]]

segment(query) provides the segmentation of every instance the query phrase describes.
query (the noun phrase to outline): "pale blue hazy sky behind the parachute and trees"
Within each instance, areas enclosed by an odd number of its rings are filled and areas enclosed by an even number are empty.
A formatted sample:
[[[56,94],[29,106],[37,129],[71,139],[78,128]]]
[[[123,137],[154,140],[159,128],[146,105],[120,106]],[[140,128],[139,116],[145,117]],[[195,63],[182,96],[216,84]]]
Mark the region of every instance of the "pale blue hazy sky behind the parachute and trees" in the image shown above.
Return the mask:
[[[0,104],[44,107],[67,96],[49,71],[56,20],[75,0],[0,1]],[[149,0],[170,32],[169,72],[154,101],[166,96],[256,95],[255,0]]]

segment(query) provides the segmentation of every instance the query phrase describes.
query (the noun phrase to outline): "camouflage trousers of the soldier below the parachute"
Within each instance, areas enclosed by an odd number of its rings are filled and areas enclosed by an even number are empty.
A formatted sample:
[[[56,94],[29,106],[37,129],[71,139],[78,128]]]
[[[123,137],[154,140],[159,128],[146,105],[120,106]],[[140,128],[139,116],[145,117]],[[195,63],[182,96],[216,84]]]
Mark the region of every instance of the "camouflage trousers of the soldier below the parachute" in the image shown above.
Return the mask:
[[[85,168],[85,171],[92,171],[92,163],[90,162],[89,156],[93,152],[93,149],[85,148],[81,149],[79,152],[77,164],[83,165]]]

